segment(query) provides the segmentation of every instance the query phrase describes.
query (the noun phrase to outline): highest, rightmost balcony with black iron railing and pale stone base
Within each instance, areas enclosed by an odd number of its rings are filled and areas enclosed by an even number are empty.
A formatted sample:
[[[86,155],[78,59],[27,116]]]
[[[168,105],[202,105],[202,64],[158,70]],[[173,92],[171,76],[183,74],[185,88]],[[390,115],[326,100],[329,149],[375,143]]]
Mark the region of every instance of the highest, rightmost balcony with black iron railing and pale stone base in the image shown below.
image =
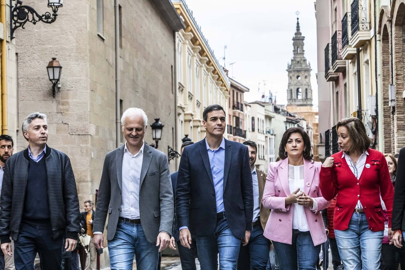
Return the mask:
[[[370,40],[370,23],[367,18],[367,0],[353,0],[350,6],[352,15],[351,45],[360,48],[367,40]]]

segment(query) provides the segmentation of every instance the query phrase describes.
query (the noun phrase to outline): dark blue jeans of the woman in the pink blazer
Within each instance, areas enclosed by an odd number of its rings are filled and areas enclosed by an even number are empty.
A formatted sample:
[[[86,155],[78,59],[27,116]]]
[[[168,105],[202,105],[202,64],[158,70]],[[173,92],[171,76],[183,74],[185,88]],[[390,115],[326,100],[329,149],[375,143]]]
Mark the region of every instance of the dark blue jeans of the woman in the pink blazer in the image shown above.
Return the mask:
[[[292,244],[273,241],[280,270],[316,269],[321,245],[313,245],[311,233],[292,230]]]

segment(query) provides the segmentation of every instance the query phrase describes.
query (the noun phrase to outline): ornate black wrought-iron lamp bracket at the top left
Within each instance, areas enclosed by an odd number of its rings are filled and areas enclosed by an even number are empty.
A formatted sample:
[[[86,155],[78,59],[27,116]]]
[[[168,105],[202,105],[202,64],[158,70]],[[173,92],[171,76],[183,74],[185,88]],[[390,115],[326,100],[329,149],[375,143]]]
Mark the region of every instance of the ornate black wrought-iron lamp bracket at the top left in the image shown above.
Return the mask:
[[[17,3],[13,5],[13,1]],[[50,12],[45,12],[43,15],[39,15],[31,6],[23,5],[21,0],[10,0],[10,38],[14,38],[14,32],[17,28],[21,27],[24,29],[24,25],[29,21],[36,24],[38,21],[43,21],[44,23],[53,23],[58,16],[58,9],[62,7],[51,6],[52,15]]]

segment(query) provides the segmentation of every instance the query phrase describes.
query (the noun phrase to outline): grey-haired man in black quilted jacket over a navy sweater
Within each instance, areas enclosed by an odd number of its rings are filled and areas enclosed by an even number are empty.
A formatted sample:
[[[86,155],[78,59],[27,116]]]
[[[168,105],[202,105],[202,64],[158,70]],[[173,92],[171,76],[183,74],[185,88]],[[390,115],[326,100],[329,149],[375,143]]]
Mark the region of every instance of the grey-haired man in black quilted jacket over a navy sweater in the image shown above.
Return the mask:
[[[6,162],[1,194],[0,241],[19,270],[32,269],[36,253],[42,269],[61,269],[62,248],[76,248],[79,199],[69,157],[46,145],[46,115],[32,113],[22,125],[28,148]]]

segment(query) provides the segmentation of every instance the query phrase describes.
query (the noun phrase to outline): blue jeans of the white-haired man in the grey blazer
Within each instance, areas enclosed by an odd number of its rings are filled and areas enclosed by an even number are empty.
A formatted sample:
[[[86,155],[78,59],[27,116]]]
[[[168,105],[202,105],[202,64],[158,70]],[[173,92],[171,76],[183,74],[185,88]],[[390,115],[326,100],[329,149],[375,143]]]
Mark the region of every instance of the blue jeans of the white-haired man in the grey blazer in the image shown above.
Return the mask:
[[[119,221],[114,238],[108,241],[111,270],[131,270],[136,260],[136,269],[158,269],[159,247],[149,243],[141,223]]]

